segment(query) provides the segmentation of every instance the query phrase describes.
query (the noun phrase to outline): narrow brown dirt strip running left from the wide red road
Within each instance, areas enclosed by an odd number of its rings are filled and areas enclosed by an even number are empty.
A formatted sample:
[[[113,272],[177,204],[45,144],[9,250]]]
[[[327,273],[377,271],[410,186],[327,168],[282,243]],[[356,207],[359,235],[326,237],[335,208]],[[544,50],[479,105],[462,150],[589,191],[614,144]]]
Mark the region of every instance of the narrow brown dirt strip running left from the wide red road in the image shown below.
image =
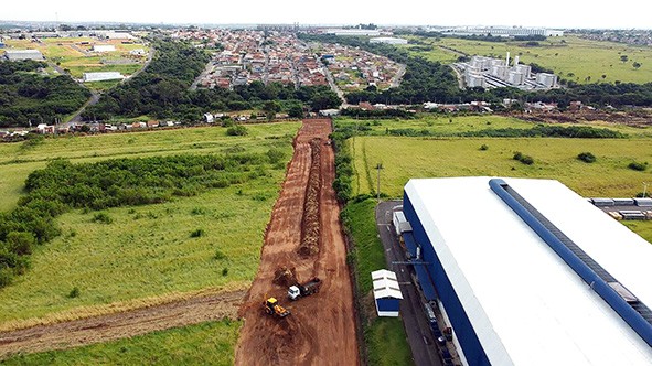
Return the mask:
[[[245,291],[222,292],[135,311],[0,333],[0,359],[17,352],[70,348],[225,316],[236,317],[244,295]]]

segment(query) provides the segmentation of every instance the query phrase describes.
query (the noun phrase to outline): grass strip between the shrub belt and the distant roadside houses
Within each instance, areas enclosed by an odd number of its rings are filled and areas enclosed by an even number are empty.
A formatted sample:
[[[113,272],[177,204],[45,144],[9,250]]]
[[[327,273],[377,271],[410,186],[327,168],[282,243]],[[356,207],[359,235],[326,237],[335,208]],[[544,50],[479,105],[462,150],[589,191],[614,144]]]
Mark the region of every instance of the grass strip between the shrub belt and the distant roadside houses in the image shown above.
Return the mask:
[[[0,143],[0,211],[11,209],[20,197],[23,182],[33,170],[54,159],[90,162],[109,158],[138,158],[175,153],[221,153],[229,149],[265,152],[287,146],[299,123],[247,126],[248,136],[226,136],[220,127],[184,128],[132,133],[107,133],[88,137],[65,136],[45,139],[25,148],[20,143]]]

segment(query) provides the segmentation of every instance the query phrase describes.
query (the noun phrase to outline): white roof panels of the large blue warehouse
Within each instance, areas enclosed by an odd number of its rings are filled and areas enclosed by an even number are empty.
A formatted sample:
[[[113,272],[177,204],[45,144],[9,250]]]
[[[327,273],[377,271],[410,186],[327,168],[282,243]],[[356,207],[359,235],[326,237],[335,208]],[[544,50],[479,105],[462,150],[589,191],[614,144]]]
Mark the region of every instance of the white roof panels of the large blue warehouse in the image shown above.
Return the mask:
[[[405,190],[490,362],[652,364],[652,348],[491,191],[489,180],[410,180]],[[650,243],[557,181],[504,180],[652,303]]]

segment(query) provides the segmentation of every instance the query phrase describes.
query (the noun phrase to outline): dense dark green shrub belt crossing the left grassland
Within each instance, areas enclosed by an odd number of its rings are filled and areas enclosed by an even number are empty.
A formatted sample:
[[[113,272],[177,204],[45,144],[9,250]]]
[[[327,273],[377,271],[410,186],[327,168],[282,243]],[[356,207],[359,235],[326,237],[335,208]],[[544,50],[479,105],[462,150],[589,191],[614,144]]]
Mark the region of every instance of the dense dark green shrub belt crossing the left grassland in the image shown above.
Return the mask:
[[[267,174],[282,151],[174,155],[72,164],[56,160],[32,172],[18,207],[0,213],[0,288],[30,267],[36,245],[61,234],[55,218],[71,208],[104,209],[161,203]],[[282,168],[282,166],[281,166]],[[99,220],[96,216],[96,220]]]

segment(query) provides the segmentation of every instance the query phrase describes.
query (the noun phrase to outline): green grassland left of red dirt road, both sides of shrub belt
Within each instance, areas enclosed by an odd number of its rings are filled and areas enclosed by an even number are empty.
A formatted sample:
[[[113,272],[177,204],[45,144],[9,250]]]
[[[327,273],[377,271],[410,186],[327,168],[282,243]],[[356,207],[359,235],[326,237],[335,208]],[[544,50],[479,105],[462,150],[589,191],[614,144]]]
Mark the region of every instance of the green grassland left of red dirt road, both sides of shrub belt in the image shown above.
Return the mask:
[[[249,126],[246,137],[226,137],[224,128],[192,128],[46,139],[29,149],[1,144],[2,209],[15,205],[26,175],[52,159],[77,163],[179,153],[261,153],[276,148],[288,161],[298,127]],[[62,235],[36,248],[31,269],[0,290],[0,325],[65,311],[83,315],[142,298],[246,288],[258,267],[284,168],[269,168],[263,177],[197,196],[106,209],[108,223],[94,219],[94,211],[60,216]],[[78,295],[70,297],[74,288]]]

